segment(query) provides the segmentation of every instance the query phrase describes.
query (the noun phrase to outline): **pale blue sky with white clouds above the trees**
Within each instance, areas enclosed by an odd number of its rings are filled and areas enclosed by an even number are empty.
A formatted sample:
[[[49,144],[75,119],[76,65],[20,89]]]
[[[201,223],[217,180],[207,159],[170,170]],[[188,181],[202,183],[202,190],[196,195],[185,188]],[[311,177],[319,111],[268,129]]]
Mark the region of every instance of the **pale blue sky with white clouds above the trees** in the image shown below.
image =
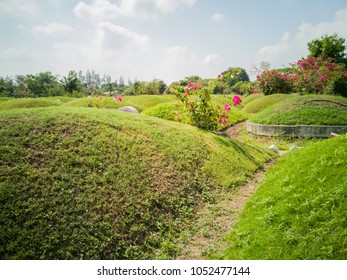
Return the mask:
[[[346,0],[0,0],[0,76],[252,77],[252,65],[288,66],[333,33],[347,41]]]

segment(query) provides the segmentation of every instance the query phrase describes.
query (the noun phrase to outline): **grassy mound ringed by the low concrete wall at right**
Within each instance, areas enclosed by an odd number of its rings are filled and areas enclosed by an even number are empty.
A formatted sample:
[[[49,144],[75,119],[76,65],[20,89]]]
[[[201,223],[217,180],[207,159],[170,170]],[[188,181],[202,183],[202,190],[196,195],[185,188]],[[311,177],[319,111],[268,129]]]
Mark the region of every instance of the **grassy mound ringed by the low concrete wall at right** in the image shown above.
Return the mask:
[[[253,116],[251,121],[260,124],[347,125],[347,99],[338,96],[296,96],[268,107]]]

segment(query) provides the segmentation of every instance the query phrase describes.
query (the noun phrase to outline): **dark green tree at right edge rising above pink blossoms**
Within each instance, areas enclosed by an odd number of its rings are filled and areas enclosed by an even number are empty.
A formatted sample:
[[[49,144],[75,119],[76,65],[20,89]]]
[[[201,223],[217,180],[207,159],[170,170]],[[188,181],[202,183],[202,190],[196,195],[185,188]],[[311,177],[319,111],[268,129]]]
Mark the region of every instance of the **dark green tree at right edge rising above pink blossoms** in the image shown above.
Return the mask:
[[[331,36],[324,35],[320,39],[314,39],[307,44],[310,52],[308,57],[322,57],[323,59],[331,57],[333,62],[343,63],[347,66],[345,41],[344,38],[339,37],[336,33]]]

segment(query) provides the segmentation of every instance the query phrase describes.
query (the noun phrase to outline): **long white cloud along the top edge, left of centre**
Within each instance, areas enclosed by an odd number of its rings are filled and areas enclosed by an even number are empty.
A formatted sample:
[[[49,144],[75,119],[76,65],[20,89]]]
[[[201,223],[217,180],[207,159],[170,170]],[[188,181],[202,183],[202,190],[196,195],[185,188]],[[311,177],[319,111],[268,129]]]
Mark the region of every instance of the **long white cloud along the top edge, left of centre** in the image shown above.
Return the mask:
[[[92,4],[79,2],[74,8],[77,17],[85,20],[107,21],[120,17],[157,19],[178,8],[191,7],[197,0],[94,0]]]

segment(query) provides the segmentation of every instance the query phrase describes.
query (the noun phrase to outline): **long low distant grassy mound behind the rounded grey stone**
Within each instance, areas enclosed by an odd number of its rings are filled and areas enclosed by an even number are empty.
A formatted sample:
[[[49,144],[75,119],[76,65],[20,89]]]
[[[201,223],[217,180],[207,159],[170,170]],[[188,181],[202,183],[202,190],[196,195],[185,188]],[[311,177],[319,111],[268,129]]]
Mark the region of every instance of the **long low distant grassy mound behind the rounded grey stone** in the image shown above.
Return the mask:
[[[95,97],[93,97],[95,98]],[[159,103],[165,103],[176,100],[173,95],[137,95],[137,96],[124,96],[123,102],[114,100],[113,97],[102,97],[102,108],[119,108],[122,106],[132,106],[140,112],[146,108],[150,108]],[[71,102],[65,103],[65,107],[88,107],[90,100],[86,97],[78,98]]]

